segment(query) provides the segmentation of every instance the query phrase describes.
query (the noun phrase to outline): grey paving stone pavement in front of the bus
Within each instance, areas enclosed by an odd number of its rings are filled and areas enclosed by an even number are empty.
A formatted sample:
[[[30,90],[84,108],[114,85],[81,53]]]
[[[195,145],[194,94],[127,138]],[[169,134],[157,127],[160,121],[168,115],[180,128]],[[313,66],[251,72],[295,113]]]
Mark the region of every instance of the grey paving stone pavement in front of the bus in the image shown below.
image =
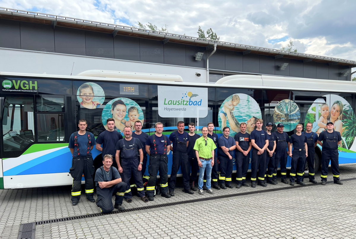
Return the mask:
[[[332,180],[329,168],[329,180]],[[341,179],[356,177],[355,165],[340,166]],[[315,175],[320,181],[320,173]],[[308,180],[305,180],[309,184]],[[215,194],[185,194],[144,203],[133,197],[125,208],[287,187],[279,183]],[[227,199],[125,212],[36,226],[36,238],[356,238],[356,180]],[[113,198],[114,199],[114,198]],[[82,196],[70,205],[70,187],[0,191],[0,237],[16,238],[22,223],[98,213]]]

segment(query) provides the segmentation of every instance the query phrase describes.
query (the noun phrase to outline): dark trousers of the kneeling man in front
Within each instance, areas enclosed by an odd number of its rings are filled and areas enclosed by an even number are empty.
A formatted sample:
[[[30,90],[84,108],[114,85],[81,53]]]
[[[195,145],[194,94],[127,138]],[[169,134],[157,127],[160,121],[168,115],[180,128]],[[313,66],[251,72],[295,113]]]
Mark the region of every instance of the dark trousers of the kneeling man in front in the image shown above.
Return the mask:
[[[125,190],[127,184],[120,182],[110,188],[101,189],[99,186],[96,187],[96,194],[98,199],[96,200],[96,205],[100,207],[103,213],[109,213],[114,210],[111,198],[115,195],[115,205],[122,205],[122,199],[124,199]]]

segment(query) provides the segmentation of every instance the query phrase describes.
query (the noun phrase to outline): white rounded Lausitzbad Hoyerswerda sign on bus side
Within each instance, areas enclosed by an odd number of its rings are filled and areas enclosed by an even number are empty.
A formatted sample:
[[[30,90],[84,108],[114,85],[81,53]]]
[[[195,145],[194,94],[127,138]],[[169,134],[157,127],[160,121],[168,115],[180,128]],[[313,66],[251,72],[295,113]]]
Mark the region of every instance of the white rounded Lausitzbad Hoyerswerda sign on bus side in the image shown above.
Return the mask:
[[[163,118],[204,118],[208,88],[158,86],[158,114]]]

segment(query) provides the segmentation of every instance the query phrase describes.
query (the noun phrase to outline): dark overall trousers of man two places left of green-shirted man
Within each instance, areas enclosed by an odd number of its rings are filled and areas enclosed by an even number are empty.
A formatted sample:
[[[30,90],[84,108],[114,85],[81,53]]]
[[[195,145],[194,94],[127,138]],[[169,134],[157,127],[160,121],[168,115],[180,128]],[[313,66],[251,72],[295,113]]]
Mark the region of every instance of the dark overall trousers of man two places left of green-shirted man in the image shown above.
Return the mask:
[[[190,185],[189,185],[190,172],[188,171],[188,153],[174,151],[173,159],[172,159],[171,179],[169,180],[169,184],[168,184],[168,188],[170,192],[174,192],[174,188],[176,187],[177,172],[179,170],[179,167],[182,169],[184,190],[188,191],[190,189]]]

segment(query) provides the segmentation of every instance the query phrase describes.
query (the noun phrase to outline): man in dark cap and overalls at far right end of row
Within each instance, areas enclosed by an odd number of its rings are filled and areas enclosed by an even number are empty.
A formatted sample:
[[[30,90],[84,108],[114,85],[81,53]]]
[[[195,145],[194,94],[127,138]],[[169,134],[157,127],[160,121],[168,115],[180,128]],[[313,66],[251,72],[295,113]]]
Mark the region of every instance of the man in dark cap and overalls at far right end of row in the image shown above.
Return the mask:
[[[326,124],[326,131],[320,133],[318,143],[321,145],[321,185],[326,185],[326,178],[328,177],[329,162],[331,160],[331,171],[335,184],[342,185],[339,173],[339,152],[337,152],[338,145],[341,143],[341,134],[334,130],[334,123],[328,121]]]

